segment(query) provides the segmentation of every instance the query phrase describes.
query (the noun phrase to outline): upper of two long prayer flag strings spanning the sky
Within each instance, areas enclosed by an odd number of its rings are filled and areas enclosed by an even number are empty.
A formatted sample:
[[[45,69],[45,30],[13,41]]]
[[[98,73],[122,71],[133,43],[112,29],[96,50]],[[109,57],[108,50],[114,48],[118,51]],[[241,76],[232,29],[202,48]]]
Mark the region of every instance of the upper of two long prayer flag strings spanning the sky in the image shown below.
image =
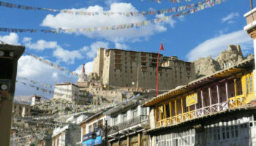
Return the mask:
[[[150,0],[153,1],[153,0]],[[159,3],[161,3],[161,0],[155,0]],[[182,1],[191,1],[191,0],[167,0],[167,1],[172,1],[173,3],[179,3]],[[208,1],[208,0],[205,0]],[[142,12],[78,12],[78,11],[72,11],[72,10],[67,10],[67,9],[48,9],[48,8],[41,8],[41,7],[31,7],[31,6],[23,6],[20,4],[12,4],[4,1],[0,1],[0,6],[2,7],[8,7],[11,9],[24,9],[24,10],[46,10],[46,11],[51,11],[51,12],[64,12],[66,14],[70,15],[86,15],[86,16],[97,16],[97,15],[105,15],[105,16],[112,16],[112,15],[124,15],[127,17],[132,17],[132,16],[149,16],[149,15],[159,15],[159,14],[166,14],[166,13],[171,13],[171,12],[180,12],[185,9],[189,9],[194,7],[196,4],[187,4],[184,6],[180,7],[172,7],[172,8],[167,8],[167,9],[159,9],[159,10],[151,10],[151,11],[142,11]]]

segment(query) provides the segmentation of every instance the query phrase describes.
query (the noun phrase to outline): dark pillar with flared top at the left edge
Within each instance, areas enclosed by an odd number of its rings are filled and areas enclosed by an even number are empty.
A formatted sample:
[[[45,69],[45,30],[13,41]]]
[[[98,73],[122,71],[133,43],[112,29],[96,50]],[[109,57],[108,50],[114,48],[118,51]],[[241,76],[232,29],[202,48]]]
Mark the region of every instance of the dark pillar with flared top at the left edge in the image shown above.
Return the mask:
[[[12,105],[18,59],[25,47],[0,45],[0,145],[10,145]]]

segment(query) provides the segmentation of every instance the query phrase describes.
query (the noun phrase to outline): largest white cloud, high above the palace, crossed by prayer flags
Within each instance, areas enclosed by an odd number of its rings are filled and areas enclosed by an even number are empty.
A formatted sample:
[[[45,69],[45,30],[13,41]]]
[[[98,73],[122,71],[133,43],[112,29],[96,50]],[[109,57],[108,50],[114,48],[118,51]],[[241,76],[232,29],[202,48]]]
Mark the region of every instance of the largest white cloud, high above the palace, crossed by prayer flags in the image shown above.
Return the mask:
[[[103,12],[103,7],[91,6],[80,9],[70,9],[72,11],[82,11],[82,12]],[[113,3],[110,5],[110,9],[107,12],[136,12],[138,11],[130,3]],[[92,28],[92,27],[102,27],[102,26],[114,26],[127,23],[137,23],[146,20],[145,17],[127,17],[124,15],[110,15],[105,16],[103,14],[89,16],[89,15],[69,15],[63,12],[57,15],[47,15],[44,20],[42,20],[41,26],[49,26],[51,28]],[[173,21],[170,20],[170,25]],[[83,34],[90,38],[105,38],[113,42],[124,42],[130,39],[146,38],[156,33],[166,31],[164,26],[159,26],[159,24],[151,24],[148,26],[143,26],[141,28],[129,28],[121,30],[108,30],[108,31],[94,31],[94,32],[76,32],[76,34]]]

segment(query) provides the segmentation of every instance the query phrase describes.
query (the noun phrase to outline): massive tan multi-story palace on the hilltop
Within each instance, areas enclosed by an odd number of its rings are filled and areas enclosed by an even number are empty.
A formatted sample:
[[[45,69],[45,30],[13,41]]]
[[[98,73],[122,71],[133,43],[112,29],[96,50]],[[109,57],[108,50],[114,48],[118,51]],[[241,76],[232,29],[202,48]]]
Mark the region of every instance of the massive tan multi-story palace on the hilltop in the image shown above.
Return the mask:
[[[93,72],[103,84],[152,88],[157,85],[157,53],[99,48]],[[159,89],[174,88],[195,80],[195,65],[176,56],[159,55]]]

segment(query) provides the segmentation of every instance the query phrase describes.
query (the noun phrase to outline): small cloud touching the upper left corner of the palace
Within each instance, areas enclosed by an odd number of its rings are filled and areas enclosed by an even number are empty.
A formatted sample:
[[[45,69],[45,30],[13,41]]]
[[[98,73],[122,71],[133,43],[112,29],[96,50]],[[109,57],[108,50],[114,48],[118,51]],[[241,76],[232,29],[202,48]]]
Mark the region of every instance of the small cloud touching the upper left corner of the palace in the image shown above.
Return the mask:
[[[94,58],[97,55],[97,50],[99,47],[105,47],[108,48],[108,42],[94,42],[93,44],[91,44],[91,49],[86,52],[86,56],[88,58]]]

